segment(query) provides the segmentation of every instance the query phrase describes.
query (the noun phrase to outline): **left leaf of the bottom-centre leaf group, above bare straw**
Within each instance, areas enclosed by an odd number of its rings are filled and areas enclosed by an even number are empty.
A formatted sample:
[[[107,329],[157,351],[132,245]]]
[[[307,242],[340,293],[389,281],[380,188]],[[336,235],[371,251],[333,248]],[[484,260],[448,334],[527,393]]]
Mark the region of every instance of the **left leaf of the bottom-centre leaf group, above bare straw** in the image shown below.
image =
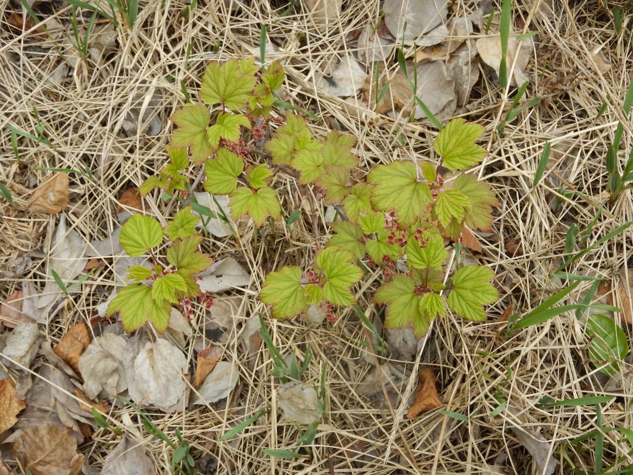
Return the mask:
[[[261,287],[260,300],[272,305],[276,319],[291,319],[308,310],[310,304],[301,286],[301,269],[292,266],[270,272]]]

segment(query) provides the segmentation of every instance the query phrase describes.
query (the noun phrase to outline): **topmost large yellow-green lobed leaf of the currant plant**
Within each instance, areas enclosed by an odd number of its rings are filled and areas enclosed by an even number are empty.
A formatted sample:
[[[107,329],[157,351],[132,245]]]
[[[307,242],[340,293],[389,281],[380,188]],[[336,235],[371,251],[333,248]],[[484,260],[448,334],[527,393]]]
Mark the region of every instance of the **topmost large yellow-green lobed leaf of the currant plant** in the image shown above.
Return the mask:
[[[204,70],[200,99],[208,105],[223,103],[230,110],[239,110],[253,95],[257,82],[254,58],[229,60],[222,65],[214,61]]]

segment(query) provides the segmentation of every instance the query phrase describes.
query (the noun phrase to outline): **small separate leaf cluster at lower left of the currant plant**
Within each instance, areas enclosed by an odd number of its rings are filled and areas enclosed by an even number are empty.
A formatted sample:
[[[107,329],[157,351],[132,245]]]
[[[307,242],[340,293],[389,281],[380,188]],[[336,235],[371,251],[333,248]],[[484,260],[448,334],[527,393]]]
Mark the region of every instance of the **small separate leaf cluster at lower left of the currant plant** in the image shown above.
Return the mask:
[[[140,213],[132,215],[123,225],[120,241],[130,257],[141,257],[149,251],[154,268],[133,265],[127,284],[118,291],[108,305],[106,315],[119,312],[125,331],[132,332],[150,322],[159,333],[169,325],[172,307],[181,301],[201,296],[196,274],[209,267],[213,260],[198,250],[203,240],[196,232],[197,215],[187,206],[176,213],[173,221],[161,228],[159,222]],[[168,238],[170,248],[166,252],[167,263],[161,262],[151,251]]]

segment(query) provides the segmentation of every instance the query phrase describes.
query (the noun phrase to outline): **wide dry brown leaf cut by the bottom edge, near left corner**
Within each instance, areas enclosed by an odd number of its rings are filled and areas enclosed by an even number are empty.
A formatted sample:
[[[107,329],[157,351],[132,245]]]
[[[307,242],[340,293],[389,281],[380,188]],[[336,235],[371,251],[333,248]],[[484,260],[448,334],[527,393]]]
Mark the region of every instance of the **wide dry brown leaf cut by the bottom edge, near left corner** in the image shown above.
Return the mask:
[[[70,429],[51,424],[23,429],[13,444],[13,454],[33,475],[78,475],[84,465]]]

